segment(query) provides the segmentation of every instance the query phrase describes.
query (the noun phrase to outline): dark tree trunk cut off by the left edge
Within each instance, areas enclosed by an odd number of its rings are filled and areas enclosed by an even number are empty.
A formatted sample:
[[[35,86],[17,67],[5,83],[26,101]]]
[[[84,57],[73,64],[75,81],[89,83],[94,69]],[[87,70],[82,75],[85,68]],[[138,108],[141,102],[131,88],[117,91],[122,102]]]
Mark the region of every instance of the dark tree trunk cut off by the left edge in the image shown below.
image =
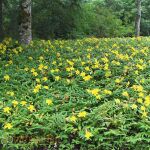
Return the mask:
[[[0,42],[3,40],[3,0],[0,0]]]

